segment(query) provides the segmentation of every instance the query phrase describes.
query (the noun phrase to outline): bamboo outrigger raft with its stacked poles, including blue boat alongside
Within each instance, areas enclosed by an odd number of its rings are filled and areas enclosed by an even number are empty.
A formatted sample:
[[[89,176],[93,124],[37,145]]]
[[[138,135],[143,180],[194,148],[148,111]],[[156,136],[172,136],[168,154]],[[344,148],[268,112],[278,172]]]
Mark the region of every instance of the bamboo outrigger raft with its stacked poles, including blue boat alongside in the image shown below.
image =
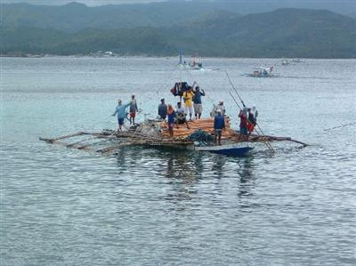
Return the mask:
[[[160,120],[146,120],[137,127],[124,132],[102,130],[99,133],[77,132],[57,138],[39,138],[51,144],[58,144],[69,149],[79,149],[102,155],[113,155],[125,146],[140,146],[142,148],[164,148],[169,150],[186,149],[198,152],[213,152],[227,156],[243,157],[254,149],[256,143],[271,141],[293,141],[302,147],[307,144],[287,137],[252,134],[248,141],[239,141],[239,132],[233,130],[229,117],[225,117],[226,128],[223,132],[221,146],[214,146],[214,118],[203,118],[177,125],[174,137],[170,137],[167,123]],[[270,144],[271,145],[271,144]],[[268,146],[269,147],[269,146]],[[270,146],[271,147],[271,146]]]

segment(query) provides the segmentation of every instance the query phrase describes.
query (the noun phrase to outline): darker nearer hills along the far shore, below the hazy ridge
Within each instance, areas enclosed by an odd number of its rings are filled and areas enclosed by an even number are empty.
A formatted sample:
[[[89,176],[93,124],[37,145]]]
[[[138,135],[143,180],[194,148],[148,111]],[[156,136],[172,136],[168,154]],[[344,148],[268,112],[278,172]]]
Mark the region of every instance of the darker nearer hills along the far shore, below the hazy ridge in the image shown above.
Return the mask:
[[[322,10],[279,9],[241,16],[215,11],[184,25],[117,29],[1,29],[2,52],[356,58],[356,20]]]

